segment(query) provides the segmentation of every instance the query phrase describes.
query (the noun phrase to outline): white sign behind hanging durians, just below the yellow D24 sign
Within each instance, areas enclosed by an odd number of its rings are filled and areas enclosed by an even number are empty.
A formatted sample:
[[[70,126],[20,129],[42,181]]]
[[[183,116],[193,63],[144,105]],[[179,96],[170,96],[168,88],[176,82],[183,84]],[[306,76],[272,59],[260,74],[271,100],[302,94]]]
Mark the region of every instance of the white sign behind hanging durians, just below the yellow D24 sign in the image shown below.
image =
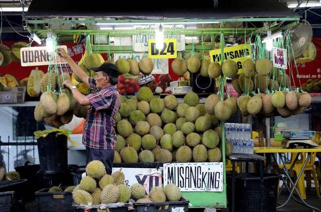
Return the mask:
[[[134,57],[137,62],[143,57],[142,53],[124,53],[124,54],[114,54],[114,61],[118,60],[119,58],[131,58]],[[169,73],[169,59],[151,59],[154,63],[154,69],[152,70],[151,74],[168,74]]]

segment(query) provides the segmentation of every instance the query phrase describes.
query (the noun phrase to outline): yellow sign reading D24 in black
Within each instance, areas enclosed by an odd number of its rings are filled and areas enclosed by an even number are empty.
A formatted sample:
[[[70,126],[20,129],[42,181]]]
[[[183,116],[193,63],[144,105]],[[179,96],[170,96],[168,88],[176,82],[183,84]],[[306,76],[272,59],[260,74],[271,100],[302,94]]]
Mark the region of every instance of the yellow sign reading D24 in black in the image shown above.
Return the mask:
[[[164,39],[162,49],[156,49],[155,39],[148,39],[148,58],[150,59],[166,59],[177,58],[177,39]]]

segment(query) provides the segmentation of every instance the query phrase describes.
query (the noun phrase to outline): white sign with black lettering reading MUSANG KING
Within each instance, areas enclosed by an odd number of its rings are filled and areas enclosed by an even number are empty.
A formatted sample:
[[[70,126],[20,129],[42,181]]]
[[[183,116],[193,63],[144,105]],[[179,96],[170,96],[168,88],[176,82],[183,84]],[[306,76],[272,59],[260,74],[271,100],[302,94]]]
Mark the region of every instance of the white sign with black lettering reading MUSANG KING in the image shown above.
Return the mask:
[[[223,191],[223,163],[165,163],[164,186],[176,184],[181,191]]]

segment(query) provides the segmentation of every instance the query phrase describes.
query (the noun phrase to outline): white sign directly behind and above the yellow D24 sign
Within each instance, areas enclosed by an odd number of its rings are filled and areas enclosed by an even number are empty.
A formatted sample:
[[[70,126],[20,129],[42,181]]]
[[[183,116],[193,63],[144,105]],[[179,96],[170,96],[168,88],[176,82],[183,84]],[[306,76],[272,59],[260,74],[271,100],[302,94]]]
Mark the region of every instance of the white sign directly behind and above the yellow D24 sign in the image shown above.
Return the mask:
[[[166,25],[165,28],[183,29],[184,25]],[[144,30],[154,29],[154,26],[134,26],[133,29]],[[132,44],[134,52],[148,52],[148,39],[154,39],[154,35],[134,35],[132,36]],[[185,35],[173,34],[164,35],[164,38],[177,39],[177,51],[185,51]]]

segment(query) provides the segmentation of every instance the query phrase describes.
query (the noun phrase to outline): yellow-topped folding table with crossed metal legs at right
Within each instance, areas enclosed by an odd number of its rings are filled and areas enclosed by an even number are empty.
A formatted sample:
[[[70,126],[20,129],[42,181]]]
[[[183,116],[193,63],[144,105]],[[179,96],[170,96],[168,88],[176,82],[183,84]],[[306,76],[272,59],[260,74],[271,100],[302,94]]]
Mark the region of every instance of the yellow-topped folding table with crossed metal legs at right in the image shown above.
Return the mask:
[[[272,147],[254,147],[254,152],[257,153],[257,154],[258,153],[266,153],[266,154],[271,154],[272,155],[274,163],[275,163],[275,169],[277,170],[278,174],[280,174],[280,177],[281,177],[281,179],[283,181],[283,185],[280,188],[279,193],[281,192],[281,190],[283,189],[284,186],[290,192],[287,200],[283,204],[281,204],[278,207],[276,207],[277,209],[280,208],[280,207],[283,207],[285,204],[287,204],[288,201],[290,200],[290,198],[292,197],[296,202],[304,204],[305,206],[309,207],[312,210],[314,209],[315,211],[321,211],[319,208],[316,208],[316,207],[313,207],[313,206],[307,204],[302,199],[300,193],[296,189],[296,184],[297,184],[300,176],[303,174],[304,168],[306,166],[307,161],[309,160],[309,158],[311,156],[311,153],[312,152],[321,152],[321,147],[316,147],[316,148],[295,148],[295,149],[287,149],[287,148],[283,148],[283,147],[273,147],[273,146]],[[284,159],[282,157],[282,154],[284,154],[284,153],[301,153],[301,152],[305,152],[307,154],[307,157],[305,158],[305,161],[304,161],[303,166],[302,166],[302,168],[301,168],[301,170],[300,170],[300,172],[299,172],[299,174],[298,174],[298,176],[296,178],[296,181],[293,182],[293,180],[290,177],[290,173],[292,171],[292,168],[293,168],[294,164],[296,163],[296,161],[297,161],[297,159],[299,157],[299,154],[296,155],[296,157],[295,157],[295,159],[293,161],[293,164],[291,165],[291,167],[289,169],[286,168],[286,165],[285,165]],[[283,163],[283,168],[282,169],[279,168],[279,164],[277,163],[275,154],[279,154],[280,160]],[[282,174],[284,174],[285,177],[283,177]],[[292,184],[292,186],[293,186],[292,189],[287,185],[287,183],[286,183],[287,180]],[[296,194],[300,198],[299,200],[297,200],[295,198],[295,196],[293,195],[294,190],[296,191]]]

